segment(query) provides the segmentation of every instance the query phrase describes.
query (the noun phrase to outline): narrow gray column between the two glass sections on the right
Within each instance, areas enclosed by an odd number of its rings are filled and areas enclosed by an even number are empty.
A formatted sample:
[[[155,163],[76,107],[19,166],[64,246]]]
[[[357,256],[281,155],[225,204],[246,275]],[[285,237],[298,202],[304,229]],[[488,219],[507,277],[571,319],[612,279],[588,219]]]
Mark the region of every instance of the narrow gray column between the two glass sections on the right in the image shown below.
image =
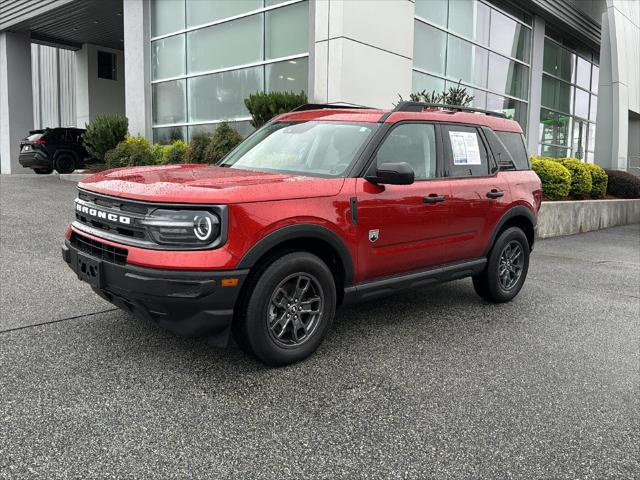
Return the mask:
[[[533,39],[531,42],[531,77],[529,78],[529,112],[527,118],[527,149],[530,155],[537,154],[540,138],[544,32],[544,20],[538,16],[534,17]]]

